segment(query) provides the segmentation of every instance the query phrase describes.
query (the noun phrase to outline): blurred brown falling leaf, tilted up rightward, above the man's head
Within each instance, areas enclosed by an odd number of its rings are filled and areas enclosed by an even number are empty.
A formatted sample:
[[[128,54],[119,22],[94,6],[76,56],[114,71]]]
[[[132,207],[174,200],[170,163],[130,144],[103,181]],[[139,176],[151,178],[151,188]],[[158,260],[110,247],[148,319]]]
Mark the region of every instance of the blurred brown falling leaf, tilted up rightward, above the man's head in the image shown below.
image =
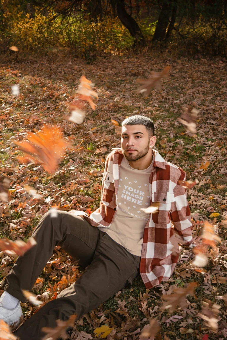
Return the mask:
[[[151,72],[150,78],[148,79],[136,79],[136,82],[141,84],[137,93],[143,93],[144,97],[147,97],[153,88],[160,89],[161,88],[161,79],[168,78],[170,66],[166,66],[162,72]]]

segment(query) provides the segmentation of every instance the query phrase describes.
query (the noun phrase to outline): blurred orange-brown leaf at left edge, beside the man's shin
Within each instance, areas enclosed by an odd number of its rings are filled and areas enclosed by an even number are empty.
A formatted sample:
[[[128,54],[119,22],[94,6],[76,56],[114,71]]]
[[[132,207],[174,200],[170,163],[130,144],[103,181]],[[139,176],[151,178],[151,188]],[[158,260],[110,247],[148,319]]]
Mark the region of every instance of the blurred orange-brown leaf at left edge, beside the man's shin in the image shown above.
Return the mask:
[[[7,238],[0,239],[0,250],[11,256],[23,256],[30,248],[36,244],[33,237],[28,242],[21,240],[11,241]]]

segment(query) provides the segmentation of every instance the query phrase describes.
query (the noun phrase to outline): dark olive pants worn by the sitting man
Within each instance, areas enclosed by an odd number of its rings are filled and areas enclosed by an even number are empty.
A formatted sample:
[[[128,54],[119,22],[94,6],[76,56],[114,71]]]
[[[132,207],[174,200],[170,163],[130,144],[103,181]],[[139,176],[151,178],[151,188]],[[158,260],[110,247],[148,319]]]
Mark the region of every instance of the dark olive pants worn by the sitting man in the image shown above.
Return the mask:
[[[96,308],[119,290],[132,283],[139,272],[140,257],[130,254],[108,234],[93,227],[79,216],[58,211],[43,216],[33,237],[37,244],[19,257],[6,276],[3,288],[22,302],[21,289],[31,290],[38,275],[46,266],[56,245],[87,267],[80,278],[64,289],[56,300],[45,304],[15,332],[21,340],[40,340],[42,327],[55,327],[57,319],[77,319]]]

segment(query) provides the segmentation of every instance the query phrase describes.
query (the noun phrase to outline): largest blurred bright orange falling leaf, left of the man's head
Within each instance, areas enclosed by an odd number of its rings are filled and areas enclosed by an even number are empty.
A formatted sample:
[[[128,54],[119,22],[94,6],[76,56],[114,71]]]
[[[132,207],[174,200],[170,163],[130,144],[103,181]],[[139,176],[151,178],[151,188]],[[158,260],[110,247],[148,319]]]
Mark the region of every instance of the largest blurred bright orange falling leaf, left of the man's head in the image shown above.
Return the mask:
[[[18,159],[22,163],[29,161],[40,163],[49,173],[57,169],[65,148],[70,147],[69,142],[63,138],[60,128],[56,125],[45,125],[37,134],[29,132],[27,139],[29,142],[14,141],[14,144],[25,153],[25,156],[20,156]]]

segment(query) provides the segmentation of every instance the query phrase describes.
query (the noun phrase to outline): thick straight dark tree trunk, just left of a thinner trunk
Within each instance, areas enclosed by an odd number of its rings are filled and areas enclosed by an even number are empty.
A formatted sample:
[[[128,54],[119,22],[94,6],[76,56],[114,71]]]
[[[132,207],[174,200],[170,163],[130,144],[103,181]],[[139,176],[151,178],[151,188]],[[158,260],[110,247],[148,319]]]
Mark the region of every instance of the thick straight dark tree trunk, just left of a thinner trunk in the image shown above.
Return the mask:
[[[169,16],[171,14],[171,4],[172,4],[172,0],[163,1],[162,9],[159,14],[155,33],[153,35],[153,39],[152,39],[153,41],[165,39],[165,33],[166,33],[166,29],[169,23]]]

